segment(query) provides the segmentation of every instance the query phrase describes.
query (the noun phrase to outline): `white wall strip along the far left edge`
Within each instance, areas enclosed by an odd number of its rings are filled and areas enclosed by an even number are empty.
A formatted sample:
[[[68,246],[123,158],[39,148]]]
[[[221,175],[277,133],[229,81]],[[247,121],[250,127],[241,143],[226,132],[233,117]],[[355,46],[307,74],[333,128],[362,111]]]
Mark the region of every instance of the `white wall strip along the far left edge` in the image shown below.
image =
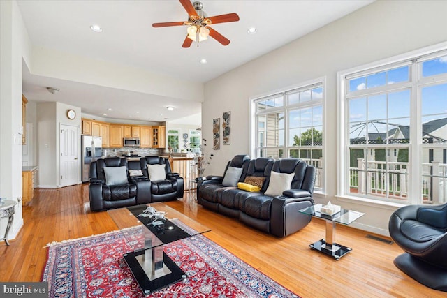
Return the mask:
[[[0,1],[0,196],[18,201],[9,237],[22,218],[22,59],[29,61],[29,37],[15,1]],[[7,218],[0,220],[0,234]]]

